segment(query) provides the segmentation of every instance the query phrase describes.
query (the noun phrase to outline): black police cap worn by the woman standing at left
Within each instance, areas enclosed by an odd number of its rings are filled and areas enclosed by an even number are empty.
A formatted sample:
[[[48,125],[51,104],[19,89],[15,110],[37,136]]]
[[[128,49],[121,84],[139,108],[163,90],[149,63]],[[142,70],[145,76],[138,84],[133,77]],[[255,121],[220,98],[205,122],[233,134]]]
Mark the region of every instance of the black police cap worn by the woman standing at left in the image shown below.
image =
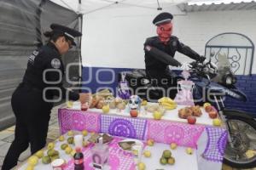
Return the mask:
[[[69,39],[73,45],[77,45],[75,42],[74,42],[74,38],[75,37],[81,37],[82,36],[82,33],[79,32],[79,31],[76,31],[72,28],[69,28],[67,26],[61,26],[61,25],[58,25],[58,24],[51,24],[49,26],[53,31],[57,31],[57,32],[61,32],[63,33],[63,35],[65,37],[67,37],[67,39]]]

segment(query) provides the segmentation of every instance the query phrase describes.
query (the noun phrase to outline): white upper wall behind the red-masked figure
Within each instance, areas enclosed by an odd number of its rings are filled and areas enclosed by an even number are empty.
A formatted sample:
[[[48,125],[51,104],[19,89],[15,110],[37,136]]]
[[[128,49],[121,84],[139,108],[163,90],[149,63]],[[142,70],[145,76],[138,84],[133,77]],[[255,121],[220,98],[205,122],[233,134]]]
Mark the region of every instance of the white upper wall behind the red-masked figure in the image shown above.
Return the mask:
[[[185,14],[176,7],[173,35],[180,41],[204,54],[205,44],[224,32],[238,32],[249,37],[256,45],[256,11],[212,11]],[[157,11],[148,8],[107,8],[84,15],[82,57],[83,65],[144,68],[143,42],[156,35],[152,20]],[[255,54],[254,54],[255,55]],[[189,60],[182,54],[176,59]],[[253,62],[256,73],[256,59]]]

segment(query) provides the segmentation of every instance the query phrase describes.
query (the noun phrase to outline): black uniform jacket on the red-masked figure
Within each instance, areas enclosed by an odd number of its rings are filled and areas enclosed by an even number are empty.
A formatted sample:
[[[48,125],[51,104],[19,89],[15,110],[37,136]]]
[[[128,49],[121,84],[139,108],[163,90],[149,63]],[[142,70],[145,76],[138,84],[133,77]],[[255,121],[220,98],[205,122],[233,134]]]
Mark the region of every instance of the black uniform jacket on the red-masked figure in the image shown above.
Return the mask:
[[[147,46],[152,48],[148,50],[146,48]],[[180,66],[181,64],[176,59],[173,59],[176,51],[189,56],[191,59],[205,59],[189,48],[189,46],[179,42],[178,38],[175,36],[172,36],[166,44],[160,42],[159,37],[148,37],[144,43],[144,51],[146,74],[148,78],[159,79],[166,77],[167,65]]]

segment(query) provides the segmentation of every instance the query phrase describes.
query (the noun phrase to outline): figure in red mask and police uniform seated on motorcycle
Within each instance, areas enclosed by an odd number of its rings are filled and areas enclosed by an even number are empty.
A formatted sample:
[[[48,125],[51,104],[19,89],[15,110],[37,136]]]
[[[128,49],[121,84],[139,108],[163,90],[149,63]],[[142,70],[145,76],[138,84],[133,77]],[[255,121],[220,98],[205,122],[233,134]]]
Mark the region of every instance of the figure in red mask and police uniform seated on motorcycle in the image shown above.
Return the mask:
[[[188,63],[180,63],[174,59],[176,52],[185,54],[191,59],[203,62],[205,57],[201,57],[194,50],[184,45],[177,37],[172,36],[172,14],[158,14],[153,24],[157,26],[156,32],[158,37],[148,37],[144,43],[146,76],[154,87],[162,88],[158,93],[149,93],[150,99],[160,99],[163,95],[169,95],[172,99],[177,94],[177,89],[172,89],[170,94],[165,94],[168,88],[176,88],[177,83],[172,79],[168,72],[168,65],[180,66],[182,69],[188,70],[191,65]],[[151,95],[152,94],[152,95]]]

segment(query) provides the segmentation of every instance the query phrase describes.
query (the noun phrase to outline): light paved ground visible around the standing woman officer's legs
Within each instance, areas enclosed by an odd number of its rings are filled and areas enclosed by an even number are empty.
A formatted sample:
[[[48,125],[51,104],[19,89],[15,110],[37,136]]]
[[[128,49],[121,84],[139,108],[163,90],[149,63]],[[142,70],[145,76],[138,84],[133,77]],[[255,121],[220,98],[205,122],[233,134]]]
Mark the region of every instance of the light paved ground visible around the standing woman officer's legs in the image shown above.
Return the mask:
[[[60,129],[59,129],[59,122],[58,122],[58,108],[62,105],[55,106],[51,113],[51,118],[49,121],[49,132],[47,136],[47,142],[53,141],[60,136]],[[6,155],[11,142],[14,140],[15,137],[15,126],[9,127],[0,132],[0,169],[3,165],[3,159]],[[19,158],[19,163],[25,161],[30,156],[30,150],[27,149],[24,151]],[[232,168],[226,165],[223,165],[223,170],[238,170],[236,168]],[[239,169],[241,170],[241,169]],[[256,170],[256,167],[247,170]]]

